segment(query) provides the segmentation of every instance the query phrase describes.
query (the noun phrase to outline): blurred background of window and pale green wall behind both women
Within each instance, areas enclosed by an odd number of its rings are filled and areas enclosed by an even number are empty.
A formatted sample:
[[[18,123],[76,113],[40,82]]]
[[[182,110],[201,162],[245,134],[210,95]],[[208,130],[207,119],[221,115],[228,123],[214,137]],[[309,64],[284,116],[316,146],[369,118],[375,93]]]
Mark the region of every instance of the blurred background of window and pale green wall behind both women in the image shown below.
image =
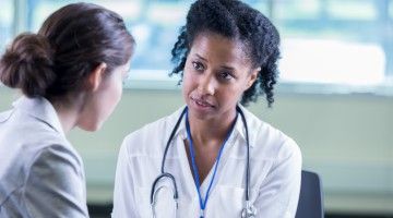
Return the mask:
[[[72,2],[0,0],[0,53]],[[191,1],[86,2],[122,15],[138,44],[114,116],[96,133],[69,135],[84,159],[92,217],[109,217],[122,138],[183,105],[179,78],[167,74]],[[261,98],[250,110],[298,143],[303,169],[322,178],[326,217],[393,217],[393,0],[246,2],[282,36],[275,104],[269,109]],[[0,84],[0,110],[19,96]]]

